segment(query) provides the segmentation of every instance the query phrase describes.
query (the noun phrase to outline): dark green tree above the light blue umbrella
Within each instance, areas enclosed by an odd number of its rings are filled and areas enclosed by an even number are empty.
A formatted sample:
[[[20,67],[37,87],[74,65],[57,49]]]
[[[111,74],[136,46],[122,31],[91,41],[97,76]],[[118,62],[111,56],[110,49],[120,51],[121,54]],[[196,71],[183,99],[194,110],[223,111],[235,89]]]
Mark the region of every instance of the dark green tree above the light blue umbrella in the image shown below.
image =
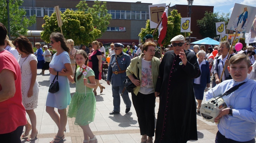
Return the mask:
[[[199,33],[202,35],[203,38],[216,37],[216,22],[225,22],[225,27],[228,25],[229,13],[225,14],[222,13],[221,15],[219,12],[212,13],[205,11],[204,17],[200,20],[197,20],[197,25],[200,28]]]

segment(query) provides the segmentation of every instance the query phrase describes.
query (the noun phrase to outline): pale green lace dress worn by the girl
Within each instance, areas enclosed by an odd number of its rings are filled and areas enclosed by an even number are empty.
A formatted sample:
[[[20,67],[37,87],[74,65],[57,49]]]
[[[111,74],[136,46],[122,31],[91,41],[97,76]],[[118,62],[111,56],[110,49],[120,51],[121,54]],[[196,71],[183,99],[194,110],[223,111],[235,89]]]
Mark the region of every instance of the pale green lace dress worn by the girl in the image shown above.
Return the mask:
[[[86,87],[85,94],[84,75],[77,80],[77,76],[81,74],[79,70],[80,68],[76,70],[76,92],[69,105],[68,117],[75,117],[75,125],[85,126],[94,121],[96,99],[92,88]],[[89,76],[95,76],[91,68],[85,76],[88,83],[90,83]]]

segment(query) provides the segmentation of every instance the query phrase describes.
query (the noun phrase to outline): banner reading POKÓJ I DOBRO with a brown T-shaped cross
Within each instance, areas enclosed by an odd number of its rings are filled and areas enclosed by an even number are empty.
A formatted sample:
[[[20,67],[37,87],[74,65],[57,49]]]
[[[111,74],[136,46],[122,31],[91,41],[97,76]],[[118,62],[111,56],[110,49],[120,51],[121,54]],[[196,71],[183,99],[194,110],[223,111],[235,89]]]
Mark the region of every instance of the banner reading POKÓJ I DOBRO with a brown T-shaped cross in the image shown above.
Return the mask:
[[[161,20],[161,16],[165,11],[165,8],[165,3],[148,5],[148,10],[150,14],[150,28],[157,28],[157,25]]]

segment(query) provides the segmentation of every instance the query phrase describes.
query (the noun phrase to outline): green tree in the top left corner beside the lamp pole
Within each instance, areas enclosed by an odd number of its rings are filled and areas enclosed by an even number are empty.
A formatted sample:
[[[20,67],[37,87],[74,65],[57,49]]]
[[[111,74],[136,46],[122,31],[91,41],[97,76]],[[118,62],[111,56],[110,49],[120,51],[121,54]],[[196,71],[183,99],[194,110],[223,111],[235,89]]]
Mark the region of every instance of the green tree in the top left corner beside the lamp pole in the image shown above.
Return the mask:
[[[9,13],[10,13],[10,33],[11,36],[18,37],[19,34],[27,35],[28,26],[35,23],[35,15],[27,18],[26,11],[19,9],[23,0],[10,0]],[[6,0],[0,1],[0,22],[8,29],[8,13]]]

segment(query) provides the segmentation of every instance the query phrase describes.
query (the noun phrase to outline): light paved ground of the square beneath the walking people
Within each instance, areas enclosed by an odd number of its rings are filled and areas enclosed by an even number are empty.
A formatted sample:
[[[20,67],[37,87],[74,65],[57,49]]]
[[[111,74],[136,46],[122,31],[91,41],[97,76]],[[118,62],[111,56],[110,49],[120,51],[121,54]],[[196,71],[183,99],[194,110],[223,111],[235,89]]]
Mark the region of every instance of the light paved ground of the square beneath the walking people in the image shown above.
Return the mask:
[[[37,81],[40,85],[38,107],[35,109],[37,115],[37,129],[38,136],[32,142],[35,143],[47,143],[53,140],[53,137],[58,132],[58,128],[54,121],[45,111],[45,102],[50,85],[49,71],[45,71],[44,75],[40,75],[41,70],[37,70]],[[139,130],[139,124],[137,121],[136,112],[134,107],[131,107],[131,111],[125,114],[125,104],[121,99],[121,112],[117,115],[109,115],[109,112],[113,110],[113,98],[111,86],[107,85],[104,80],[100,83],[106,87],[102,94],[100,89],[97,89],[98,95],[96,97],[96,114],[94,122],[89,126],[93,133],[96,135],[99,143],[140,143],[141,135]],[[70,90],[74,94],[75,84],[70,84]],[[131,99],[131,94],[129,94]],[[155,113],[158,112],[159,99],[156,99]],[[68,111],[68,109],[67,109]],[[196,109],[195,109],[196,112]],[[28,115],[27,115],[27,118]],[[179,118],[179,117],[178,117]],[[65,133],[65,143],[82,143],[83,131],[82,129],[74,125],[75,118],[68,118],[66,125],[67,132]],[[156,121],[156,119],[155,119]],[[25,130],[25,128],[24,128]],[[202,119],[200,114],[197,114],[197,130],[198,140],[188,141],[193,143],[211,143],[215,140],[215,134],[217,132],[217,125]],[[26,142],[26,138],[22,139],[22,143]],[[154,138],[153,138],[154,139]]]

